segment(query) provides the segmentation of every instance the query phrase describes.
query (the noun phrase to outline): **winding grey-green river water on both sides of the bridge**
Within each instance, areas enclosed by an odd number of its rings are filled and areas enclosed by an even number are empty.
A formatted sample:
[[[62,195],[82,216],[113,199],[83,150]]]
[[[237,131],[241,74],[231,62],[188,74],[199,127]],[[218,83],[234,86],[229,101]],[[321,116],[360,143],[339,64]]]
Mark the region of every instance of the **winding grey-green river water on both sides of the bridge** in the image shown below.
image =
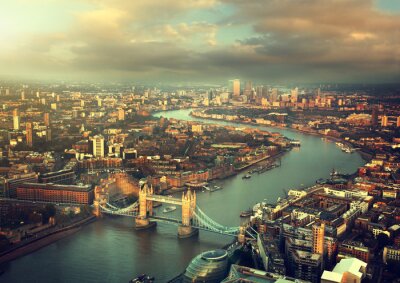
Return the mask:
[[[177,110],[159,112],[156,116],[205,121],[189,113],[190,110]],[[208,122],[245,127],[222,121]],[[275,202],[284,196],[285,189],[310,186],[319,178],[328,178],[332,168],[353,173],[363,164],[358,153],[343,153],[335,143],[320,137],[286,129],[260,128],[298,139],[301,147],[285,154],[279,168],[253,174],[248,180],[243,180],[244,173],[241,173],[216,182],[222,190],[199,192],[198,206],[220,224],[239,226],[240,211],[256,202],[264,199]],[[173,214],[179,216],[179,209],[170,213]],[[135,231],[131,218],[104,217],[73,236],[7,264],[0,282],[128,282],[141,273],[155,276],[157,282],[166,282],[182,272],[200,252],[232,240],[202,231],[196,238],[178,239],[176,232],[175,226],[163,223],[153,230]]]

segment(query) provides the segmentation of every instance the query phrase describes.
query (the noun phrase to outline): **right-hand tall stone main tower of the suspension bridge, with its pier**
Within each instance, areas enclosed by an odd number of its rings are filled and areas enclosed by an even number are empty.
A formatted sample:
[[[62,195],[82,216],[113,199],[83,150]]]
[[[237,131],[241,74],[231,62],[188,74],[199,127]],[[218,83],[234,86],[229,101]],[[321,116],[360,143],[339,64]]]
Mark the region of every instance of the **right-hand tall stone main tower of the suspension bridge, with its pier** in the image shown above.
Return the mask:
[[[178,227],[178,237],[188,238],[199,233],[191,226],[194,210],[196,209],[196,193],[188,190],[182,194],[182,225]]]

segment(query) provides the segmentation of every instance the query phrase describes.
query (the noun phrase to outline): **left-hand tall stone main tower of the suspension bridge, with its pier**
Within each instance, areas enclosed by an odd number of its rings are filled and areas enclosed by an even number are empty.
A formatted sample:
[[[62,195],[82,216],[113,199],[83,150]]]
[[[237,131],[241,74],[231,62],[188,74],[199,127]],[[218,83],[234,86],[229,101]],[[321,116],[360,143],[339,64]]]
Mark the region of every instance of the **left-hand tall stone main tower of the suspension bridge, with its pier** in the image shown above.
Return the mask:
[[[151,222],[148,216],[153,215],[153,201],[148,200],[147,196],[153,195],[153,186],[150,188],[147,184],[139,190],[139,215],[135,218],[135,228],[138,230],[155,226],[156,222]]]

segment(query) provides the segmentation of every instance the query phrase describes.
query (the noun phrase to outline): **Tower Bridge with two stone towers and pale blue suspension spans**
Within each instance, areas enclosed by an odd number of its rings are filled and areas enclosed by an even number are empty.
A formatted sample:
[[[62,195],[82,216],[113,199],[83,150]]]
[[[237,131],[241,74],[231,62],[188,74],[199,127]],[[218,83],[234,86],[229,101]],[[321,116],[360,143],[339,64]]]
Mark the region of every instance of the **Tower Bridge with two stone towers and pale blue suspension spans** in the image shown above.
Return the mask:
[[[153,212],[153,202],[181,206],[181,218],[176,219],[155,215]],[[186,193],[183,192],[182,198],[173,198],[155,195],[152,187],[144,185],[139,191],[139,200],[128,207],[118,208],[106,200],[96,200],[95,207],[98,213],[133,217],[136,229],[153,227],[156,225],[156,222],[177,225],[178,236],[180,238],[196,235],[199,230],[238,237],[246,233],[246,229],[226,227],[207,216],[196,204],[196,193],[190,190]]]

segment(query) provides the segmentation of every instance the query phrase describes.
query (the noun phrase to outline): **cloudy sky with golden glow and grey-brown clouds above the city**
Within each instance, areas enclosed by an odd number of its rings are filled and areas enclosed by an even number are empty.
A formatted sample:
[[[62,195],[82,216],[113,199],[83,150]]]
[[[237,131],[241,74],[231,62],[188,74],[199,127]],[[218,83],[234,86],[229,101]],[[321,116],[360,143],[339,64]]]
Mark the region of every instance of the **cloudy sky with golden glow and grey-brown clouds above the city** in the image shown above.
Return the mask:
[[[400,81],[400,0],[0,0],[0,77]]]

